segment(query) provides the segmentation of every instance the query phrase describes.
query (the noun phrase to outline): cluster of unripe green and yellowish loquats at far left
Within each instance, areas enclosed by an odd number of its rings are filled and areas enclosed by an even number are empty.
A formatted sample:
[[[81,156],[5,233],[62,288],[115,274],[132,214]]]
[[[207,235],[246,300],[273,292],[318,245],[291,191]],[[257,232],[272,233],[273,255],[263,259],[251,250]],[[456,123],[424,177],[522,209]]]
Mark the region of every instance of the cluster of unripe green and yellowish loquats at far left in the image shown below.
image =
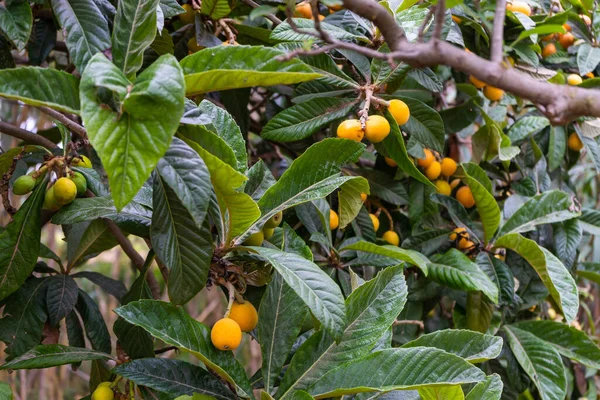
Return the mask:
[[[77,196],[82,196],[87,190],[87,180],[77,171],[67,168],[60,168],[62,161],[59,162],[58,169],[64,176],[59,177],[51,185],[44,195],[44,209],[56,211],[60,207],[71,203]],[[82,168],[92,168],[92,162],[86,156],[74,157],[71,165]],[[38,184],[38,179],[48,170],[48,164],[43,165],[39,170],[33,171],[27,175],[20,176],[15,180],[13,193],[22,196],[30,193]]]

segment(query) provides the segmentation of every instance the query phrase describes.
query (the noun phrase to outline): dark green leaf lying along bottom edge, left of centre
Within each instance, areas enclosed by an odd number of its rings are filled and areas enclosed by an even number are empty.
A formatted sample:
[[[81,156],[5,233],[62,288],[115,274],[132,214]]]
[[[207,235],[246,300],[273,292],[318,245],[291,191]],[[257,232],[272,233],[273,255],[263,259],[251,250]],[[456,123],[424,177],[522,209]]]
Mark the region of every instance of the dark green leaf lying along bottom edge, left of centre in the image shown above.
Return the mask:
[[[119,365],[112,370],[137,385],[173,396],[194,393],[211,399],[236,399],[237,396],[210,372],[181,360],[142,358]]]

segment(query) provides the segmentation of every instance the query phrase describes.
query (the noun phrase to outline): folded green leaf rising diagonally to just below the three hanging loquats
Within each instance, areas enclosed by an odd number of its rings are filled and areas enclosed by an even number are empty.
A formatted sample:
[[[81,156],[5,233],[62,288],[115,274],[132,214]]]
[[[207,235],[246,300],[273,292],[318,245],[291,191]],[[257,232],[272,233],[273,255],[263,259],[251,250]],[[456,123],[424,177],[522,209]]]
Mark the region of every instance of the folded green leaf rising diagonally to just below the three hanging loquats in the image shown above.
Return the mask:
[[[356,161],[364,148],[353,140],[333,138],[310,146],[261,197],[258,202],[261,217],[235,243],[262,228],[278,212],[323,198],[349,180],[360,179],[340,176],[340,171],[344,165]]]

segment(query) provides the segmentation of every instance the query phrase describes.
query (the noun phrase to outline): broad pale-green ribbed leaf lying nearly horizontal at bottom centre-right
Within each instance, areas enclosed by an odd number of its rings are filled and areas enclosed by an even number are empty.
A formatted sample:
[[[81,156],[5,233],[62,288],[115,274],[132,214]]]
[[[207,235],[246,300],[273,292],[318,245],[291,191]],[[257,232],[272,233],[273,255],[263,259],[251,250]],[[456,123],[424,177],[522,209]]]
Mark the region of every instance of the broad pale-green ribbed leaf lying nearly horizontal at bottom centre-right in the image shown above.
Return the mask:
[[[385,349],[330,370],[308,390],[316,399],[345,394],[477,383],[479,368],[445,351]]]

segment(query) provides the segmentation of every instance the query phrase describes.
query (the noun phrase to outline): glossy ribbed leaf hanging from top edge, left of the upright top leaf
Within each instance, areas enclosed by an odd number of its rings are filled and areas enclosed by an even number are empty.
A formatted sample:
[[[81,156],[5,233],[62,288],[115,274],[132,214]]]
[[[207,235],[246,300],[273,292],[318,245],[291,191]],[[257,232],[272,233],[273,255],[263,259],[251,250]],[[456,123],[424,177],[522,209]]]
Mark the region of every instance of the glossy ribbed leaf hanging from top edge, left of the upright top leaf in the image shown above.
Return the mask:
[[[108,21],[93,0],[52,0],[52,9],[66,32],[69,55],[82,74],[96,54],[108,50]]]

